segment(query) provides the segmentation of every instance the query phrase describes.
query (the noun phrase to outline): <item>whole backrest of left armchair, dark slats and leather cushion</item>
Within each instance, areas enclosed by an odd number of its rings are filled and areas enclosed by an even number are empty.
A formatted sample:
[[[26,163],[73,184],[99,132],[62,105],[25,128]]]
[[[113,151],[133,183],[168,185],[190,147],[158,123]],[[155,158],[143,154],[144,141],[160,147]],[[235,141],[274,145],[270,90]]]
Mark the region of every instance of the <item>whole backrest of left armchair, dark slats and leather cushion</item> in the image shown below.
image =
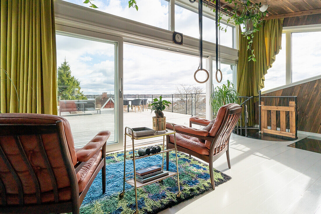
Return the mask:
[[[0,114],[1,213],[9,207],[79,203],[73,148],[61,119]]]

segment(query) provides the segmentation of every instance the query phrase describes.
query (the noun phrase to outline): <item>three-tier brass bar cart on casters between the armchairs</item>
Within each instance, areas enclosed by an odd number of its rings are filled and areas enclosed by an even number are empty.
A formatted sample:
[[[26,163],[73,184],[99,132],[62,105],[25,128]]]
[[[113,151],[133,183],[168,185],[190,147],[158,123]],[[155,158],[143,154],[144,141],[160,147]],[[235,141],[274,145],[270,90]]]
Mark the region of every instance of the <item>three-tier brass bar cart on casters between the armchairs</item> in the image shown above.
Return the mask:
[[[176,138],[175,138],[175,126],[172,123],[168,123],[171,124],[173,126],[173,131],[171,130],[165,130],[165,131],[158,131],[155,132],[154,134],[151,135],[145,135],[145,136],[140,136],[140,137],[136,137],[130,133],[127,133],[127,129],[130,129],[132,132],[134,133],[133,129],[130,127],[125,127],[125,145],[124,145],[124,185],[123,185],[123,192],[119,194],[119,198],[123,198],[124,194],[125,194],[125,182],[127,184],[130,184],[132,186],[134,186],[135,188],[135,201],[136,201],[136,211],[133,214],[138,214],[138,205],[137,205],[137,188],[138,187],[142,187],[148,184],[152,184],[155,183],[157,181],[163,180],[165,178],[177,175],[177,182],[178,182],[178,193],[176,194],[176,197],[179,198],[181,196],[181,191],[180,191],[180,187],[179,187],[179,175],[178,175],[178,161],[177,161],[177,148],[176,148]],[[165,136],[170,135],[170,134],[174,134],[174,144],[175,144],[175,148],[174,149],[164,149],[165,147]],[[126,136],[130,137],[132,139],[132,143],[133,143],[133,152],[131,153],[131,151],[126,151]],[[143,140],[143,139],[147,139],[147,138],[154,138],[154,137],[160,137],[163,136],[163,146],[162,146],[162,150],[158,153],[155,154],[150,154],[150,155],[144,155],[144,156],[138,156],[138,153],[135,152],[135,148],[134,148],[134,140]],[[161,169],[164,169],[164,153],[166,152],[170,152],[170,151],[175,151],[175,157],[176,157],[176,172],[168,172],[168,175],[164,175],[162,177],[156,178],[154,180],[148,181],[146,183],[140,183],[139,181],[136,181],[136,168],[135,168],[135,160],[140,159],[140,158],[146,158],[152,155],[158,155],[158,154],[162,154],[163,156],[163,161],[161,164],[155,165],[155,166],[160,166],[161,165]],[[132,160],[133,164],[134,164],[134,171],[132,172],[125,172],[126,169],[126,160]],[[130,175],[133,174],[133,175]]]

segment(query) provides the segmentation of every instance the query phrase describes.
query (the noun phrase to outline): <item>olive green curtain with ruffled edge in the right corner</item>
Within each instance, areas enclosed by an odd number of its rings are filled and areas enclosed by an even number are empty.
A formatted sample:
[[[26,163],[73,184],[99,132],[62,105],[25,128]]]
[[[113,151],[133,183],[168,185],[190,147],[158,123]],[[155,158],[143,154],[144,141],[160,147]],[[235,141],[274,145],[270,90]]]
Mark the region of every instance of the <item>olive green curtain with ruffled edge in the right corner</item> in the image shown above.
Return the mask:
[[[256,62],[247,61],[250,50],[247,50],[247,38],[239,33],[239,63],[237,73],[237,91],[241,96],[258,96],[264,88],[264,75],[272,67],[275,56],[281,49],[283,19],[265,21],[260,30],[254,34],[252,49]],[[254,99],[254,102],[256,99]],[[253,100],[247,105],[248,125],[255,124]]]

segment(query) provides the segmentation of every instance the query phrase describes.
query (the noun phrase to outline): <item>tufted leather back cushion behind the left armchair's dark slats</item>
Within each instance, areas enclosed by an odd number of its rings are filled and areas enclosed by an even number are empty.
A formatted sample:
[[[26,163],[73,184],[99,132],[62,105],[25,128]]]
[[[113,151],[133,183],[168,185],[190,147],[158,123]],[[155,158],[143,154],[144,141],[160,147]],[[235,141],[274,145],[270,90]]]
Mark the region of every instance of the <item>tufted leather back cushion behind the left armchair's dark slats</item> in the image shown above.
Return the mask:
[[[56,121],[62,120],[69,152],[76,163],[76,153],[74,150],[74,141],[70,133],[70,127],[67,120],[62,117],[41,114],[0,114],[0,124],[55,124]],[[69,128],[69,129],[68,129]],[[40,139],[41,138],[41,139]],[[56,133],[40,135],[22,135],[19,141],[23,147],[28,162],[34,171],[40,188],[41,202],[53,202],[53,186],[51,182],[50,171],[47,169],[46,158],[42,156],[39,142],[46,152],[49,165],[51,166],[55,182],[58,189],[60,201],[71,199],[69,176],[66,171],[65,163],[62,158],[58,135]],[[70,143],[72,142],[72,143]],[[10,162],[14,171],[19,177],[22,184],[25,204],[36,203],[36,188],[29,172],[28,165],[20,155],[19,147],[13,136],[1,136],[0,146]],[[5,165],[4,160],[0,158],[0,178],[6,190],[6,201],[8,204],[19,204],[18,184],[15,182],[9,168]],[[0,202],[1,204],[2,202]]]

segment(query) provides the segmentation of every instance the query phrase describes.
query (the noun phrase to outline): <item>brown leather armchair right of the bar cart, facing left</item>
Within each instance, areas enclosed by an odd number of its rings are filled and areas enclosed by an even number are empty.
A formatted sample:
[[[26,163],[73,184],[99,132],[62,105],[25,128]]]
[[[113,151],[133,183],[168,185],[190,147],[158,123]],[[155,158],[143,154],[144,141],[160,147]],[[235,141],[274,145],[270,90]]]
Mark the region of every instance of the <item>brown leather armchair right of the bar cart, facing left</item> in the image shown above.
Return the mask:
[[[210,121],[203,118],[191,117],[189,126],[176,125],[176,134],[166,136],[166,148],[173,149],[174,138],[176,138],[177,150],[200,158],[210,166],[210,177],[213,190],[215,189],[213,177],[213,162],[226,152],[226,158],[229,168],[229,141],[230,135],[239,120],[242,107],[235,103],[227,104],[221,107],[217,117]],[[192,124],[205,126],[199,130],[192,128]],[[173,126],[166,124],[166,128],[173,130]],[[169,153],[166,154],[166,168],[169,166]]]

